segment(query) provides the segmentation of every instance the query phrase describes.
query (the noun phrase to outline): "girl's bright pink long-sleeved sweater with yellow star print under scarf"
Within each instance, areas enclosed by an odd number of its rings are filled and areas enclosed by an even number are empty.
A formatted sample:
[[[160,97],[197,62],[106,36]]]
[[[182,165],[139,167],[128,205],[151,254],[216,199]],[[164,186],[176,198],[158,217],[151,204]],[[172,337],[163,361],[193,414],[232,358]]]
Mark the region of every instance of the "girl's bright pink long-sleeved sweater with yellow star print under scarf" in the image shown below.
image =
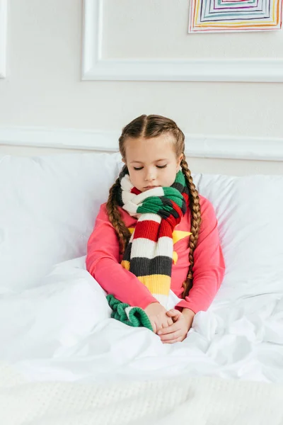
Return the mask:
[[[202,223],[194,252],[193,286],[185,300],[180,301],[176,306],[190,308],[195,313],[207,310],[221,285],[225,271],[214,209],[209,200],[202,196],[200,196],[200,208]],[[131,217],[122,208],[120,208],[120,212],[125,225],[135,227],[137,219]],[[178,297],[182,297],[182,284],[187,277],[190,264],[189,235],[186,234],[186,232],[190,232],[190,220],[190,210],[188,209],[183,219],[175,227],[175,231],[177,231],[175,238],[178,240],[173,249],[178,259],[172,266],[171,290]],[[176,254],[174,254],[175,257]],[[121,261],[117,234],[108,219],[105,204],[103,204],[100,206],[93,233],[88,240],[87,270],[107,293],[114,295],[122,302],[143,309],[151,302],[156,302],[146,286],[133,273],[122,268]]]

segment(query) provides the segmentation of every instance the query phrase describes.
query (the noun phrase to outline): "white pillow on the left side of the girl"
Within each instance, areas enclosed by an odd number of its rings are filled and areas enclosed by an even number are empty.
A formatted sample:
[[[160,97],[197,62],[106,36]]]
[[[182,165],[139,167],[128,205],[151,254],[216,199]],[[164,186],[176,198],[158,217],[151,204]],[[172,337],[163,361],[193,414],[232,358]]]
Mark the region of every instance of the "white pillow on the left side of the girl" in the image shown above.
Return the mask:
[[[120,154],[5,156],[0,161],[0,292],[31,288],[86,254]]]

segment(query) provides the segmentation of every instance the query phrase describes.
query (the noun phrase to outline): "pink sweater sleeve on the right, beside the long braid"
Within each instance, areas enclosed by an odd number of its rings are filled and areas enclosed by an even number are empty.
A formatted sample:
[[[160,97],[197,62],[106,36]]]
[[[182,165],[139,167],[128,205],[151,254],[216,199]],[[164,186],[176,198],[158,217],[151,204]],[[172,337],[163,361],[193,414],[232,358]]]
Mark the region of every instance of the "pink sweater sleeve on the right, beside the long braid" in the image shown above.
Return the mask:
[[[209,200],[202,198],[202,222],[197,246],[194,251],[193,285],[185,300],[178,307],[193,312],[206,311],[219,290],[225,273],[219,233],[214,208]]]

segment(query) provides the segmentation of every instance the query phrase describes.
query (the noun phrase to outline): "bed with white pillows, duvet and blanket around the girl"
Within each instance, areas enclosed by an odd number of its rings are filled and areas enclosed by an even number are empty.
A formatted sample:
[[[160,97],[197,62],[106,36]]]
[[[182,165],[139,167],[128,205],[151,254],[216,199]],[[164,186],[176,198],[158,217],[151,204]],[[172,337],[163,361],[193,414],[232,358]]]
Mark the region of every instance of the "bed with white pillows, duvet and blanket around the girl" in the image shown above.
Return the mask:
[[[85,268],[121,166],[119,154],[0,159],[0,423],[283,424],[283,175],[193,176],[226,276],[171,346],[111,319]]]

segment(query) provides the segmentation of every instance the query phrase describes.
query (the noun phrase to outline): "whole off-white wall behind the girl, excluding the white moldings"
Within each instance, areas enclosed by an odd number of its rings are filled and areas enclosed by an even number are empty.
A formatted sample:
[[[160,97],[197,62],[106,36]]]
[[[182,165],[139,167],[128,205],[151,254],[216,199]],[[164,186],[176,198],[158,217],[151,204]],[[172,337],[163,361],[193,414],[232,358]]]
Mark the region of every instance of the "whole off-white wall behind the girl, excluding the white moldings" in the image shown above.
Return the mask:
[[[105,0],[105,57],[283,57],[283,31],[188,35],[187,21],[187,0]],[[0,125],[119,131],[158,113],[192,134],[282,137],[283,84],[81,81],[81,22],[80,0],[8,2]]]

